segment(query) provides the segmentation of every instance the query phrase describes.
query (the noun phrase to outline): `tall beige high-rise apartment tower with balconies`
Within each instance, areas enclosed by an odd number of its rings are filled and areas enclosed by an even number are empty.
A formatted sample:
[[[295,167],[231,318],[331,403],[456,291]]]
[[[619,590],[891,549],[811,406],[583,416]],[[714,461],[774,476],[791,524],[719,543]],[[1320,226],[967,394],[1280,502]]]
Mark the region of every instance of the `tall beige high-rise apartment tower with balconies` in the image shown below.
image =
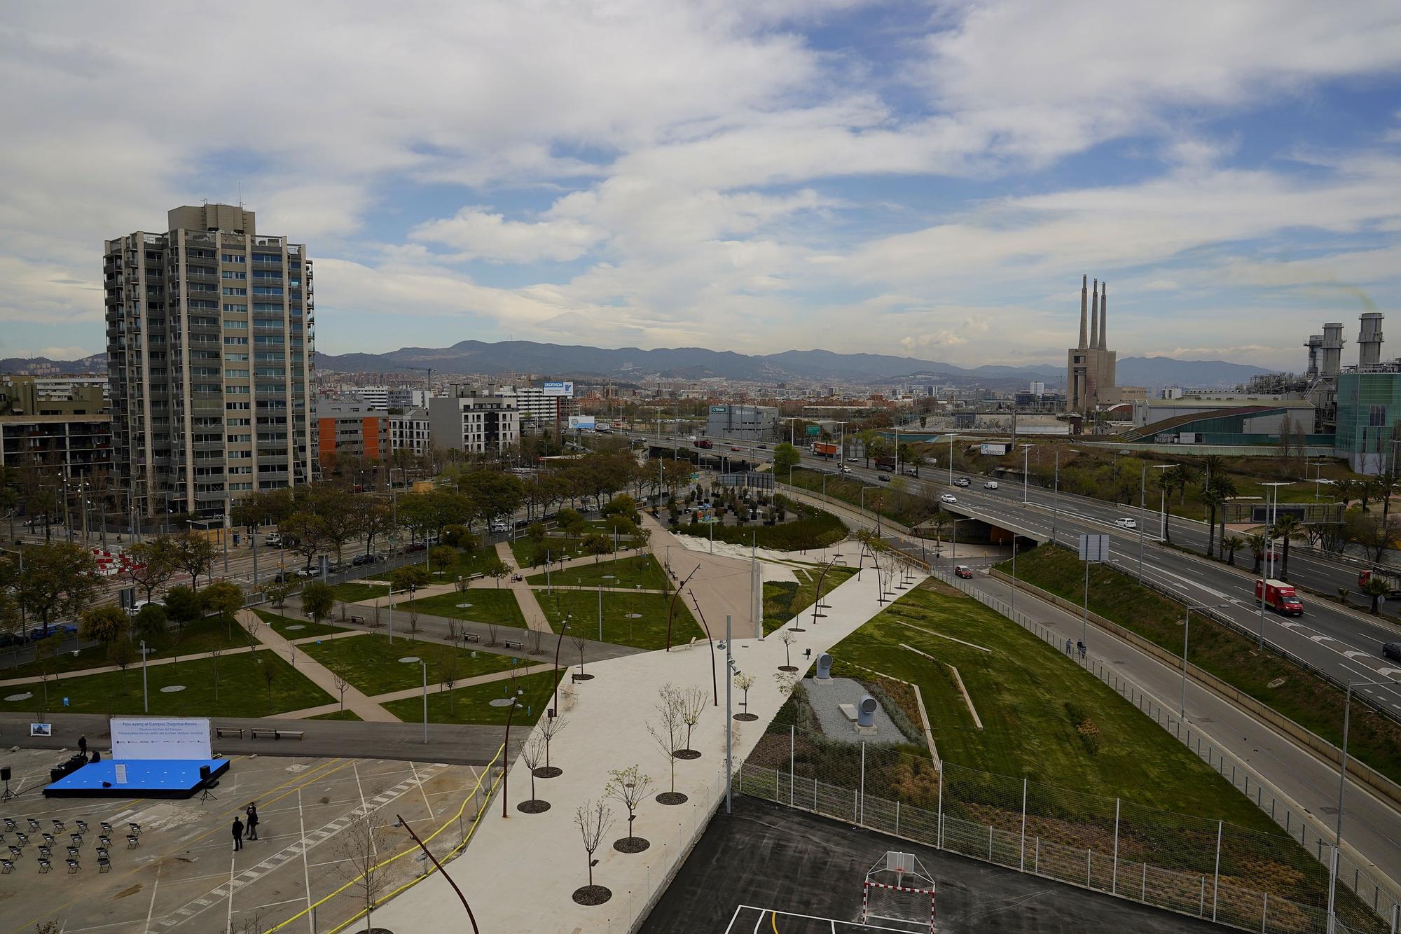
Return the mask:
[[[314,473],[311,260],[235,204],[105,242],[113,465],[143,515],[217,515]]]

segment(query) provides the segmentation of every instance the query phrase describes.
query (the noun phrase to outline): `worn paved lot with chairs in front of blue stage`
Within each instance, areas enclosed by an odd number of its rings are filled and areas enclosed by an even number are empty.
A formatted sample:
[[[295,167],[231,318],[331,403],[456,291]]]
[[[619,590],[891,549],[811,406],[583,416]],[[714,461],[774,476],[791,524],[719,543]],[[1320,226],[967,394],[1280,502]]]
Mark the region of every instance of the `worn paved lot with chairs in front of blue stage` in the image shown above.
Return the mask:
[[[146,931],[329,931],[363,906],[363,892],[346,886],[356,872],[346,860],[357,812],[396,816],[420,837],[441,828],[430,843],[443,856],[471,829],[481,805],[474,794],[481,769],[381,759],[234,756],[228,773],[202,801],[46,800],[49,767],[64,753],[42,749],[0,753],[11,766],[17,797],[0,804],[10,818],[0,853],[13,871],[0,875],[0,934],[32,934],[35,924],[57,923],[64,934]],[[488,783],[482,783],[485,787]],[[259,839],[233,851],[230,826],[249,801],[258,802]],[[464,807],[465,804],[465,807]],[[38,829],[29,819],[38,823]],[[53,821],[62,821],[59,830]],[[70,833],[84,821],[77,868],[66,864]],[[99,871],[101,822],[112,826],[109,871]],[[129,823],[140,826],[130,846]],[[55,837],[49,872],[41,872],[42,833]],[[20,835],[28,836],[21,843]],[[432,864],[422,860],[402,829],[391,828],[377,847],[387,867],[385,892],[410,882]],[[13,856],[10,846],[18,847]],[[130,846],[130,849],[129,849]],[[412,851],[409,851],[412,850]],[[331,898],[328,898],[331,896]],[[324,900],[325,899],[325,900]],[[319,903],[318,903],[319,902]]]

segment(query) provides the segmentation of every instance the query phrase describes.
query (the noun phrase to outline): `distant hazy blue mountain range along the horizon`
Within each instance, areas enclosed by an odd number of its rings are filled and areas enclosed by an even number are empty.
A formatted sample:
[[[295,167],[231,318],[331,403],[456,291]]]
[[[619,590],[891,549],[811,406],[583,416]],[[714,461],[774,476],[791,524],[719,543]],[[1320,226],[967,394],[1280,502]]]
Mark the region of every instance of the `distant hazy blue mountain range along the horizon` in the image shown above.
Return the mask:
[[[815,379],[832,382],[953,382],[1017,388],[1033,379],[1048,386],[1063,382],[1065,370],[1054,365],[981,365],[958,367],[939,360],[918,360],[871,353],[834,353],[831,350],[785,350],[772,354],[743,354],[705,347],[602,349],[581,344],[552,344],[534,340],[461,340],[451,347],[401,347],[387,353],[317,354],[317,365],[328,372],[402,372],[416,375],[429,368],[451,374],[531,374],[546,378],[611,378],[626,382],[672,379],[748,379],[783,382]],[[46,357],[0,360],[0,372],[101,372],[105,354],[83,360]],[[1118,361],[1121,385],[1189,385],[1234,386],[1250,377],[1268,372],[1222,360],[1174,360],[1171,357],[1125,357]]]

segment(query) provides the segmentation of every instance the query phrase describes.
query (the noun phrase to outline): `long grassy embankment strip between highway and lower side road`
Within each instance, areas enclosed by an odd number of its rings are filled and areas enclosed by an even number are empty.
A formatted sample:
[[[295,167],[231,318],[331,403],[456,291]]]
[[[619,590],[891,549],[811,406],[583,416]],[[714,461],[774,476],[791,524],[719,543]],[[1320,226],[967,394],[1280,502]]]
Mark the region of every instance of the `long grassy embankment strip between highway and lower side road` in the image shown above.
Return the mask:
[[[999,569],[1012,573],[1010,562]],[[1083,599],[1084,566],[1065,549],[1037,548],[1017,560],[1026,581],[1072,602]],[[1182,650],[1184,606],[1105,564],[1090,570],[1090,609],[1173,654]],[[1344,692],[1314,678],[1255,640],[1196,616],[1189,661],[1251,697],[1269,704],[1332,744],[1342,742]],[[1274,682],[1278,686],[1271,686]],[[1394,781],[1401,781],[1401,724],[1353,702],[1348,752]]]

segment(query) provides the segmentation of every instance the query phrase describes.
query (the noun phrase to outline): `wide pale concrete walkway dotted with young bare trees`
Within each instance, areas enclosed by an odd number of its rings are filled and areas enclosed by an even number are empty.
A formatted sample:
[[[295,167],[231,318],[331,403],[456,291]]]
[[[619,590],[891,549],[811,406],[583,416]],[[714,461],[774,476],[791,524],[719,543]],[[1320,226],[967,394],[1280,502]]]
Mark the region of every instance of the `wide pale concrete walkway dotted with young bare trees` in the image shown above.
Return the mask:
[[[743,609],[748,581],[747,569],[743,562],[740,564]],[[706,562],[696,577],[719,570],[720,566]],[[720,594],[722,588],[730,587],[726,581],[733,578],[716,574],[710,580],[722,581],[712,588],[712,592]],[[793,661],[803,664],[807,648],[815,658],[874,616],[880,611],[876,588],[876,576],[863,574],[862,580],[853,577],[834,590],[828,597],[832,608],[822,623],[797,634]],[[705,601],[702,597],[712,625],[720,630],[717,636],[723,634],[724,611]],[[758,723],[734,723],[734,758],[738,760],[754,749],[764,725],[778,713],[787,693],[776,686],[773,678],[785,658],[779,640],[759,641],[737,633],[734,657],[738,668],[757,679],[750,690],[748,709],[759,717]],[[717,664],[723,665],[724,658],[719,657]],[[577,703],[565,714],[567,728],[553,742],[553,763],[565,772],[558,779],[535,781],[537,794],[551,802],[551,809],[535,815],[516,811],[516,805],[530,797],[530,777],[524,765],[516,760],[506,795],[510,816],[502,818],[500,802],[495,802],[479,825],[476,839],[447,867],[453,878],[468,884],[472,892],[489,893],[472,902],[485,931],[628,931],[685,858],[712,811],[723,807],[724,683],[719,689],[720,707],[706,709],[691,741],[702,758],[674,763],[677,790],[689,795],[685,804],[665,807],[653,798],[670,787],[671,758],[657,749],[646,732],[646,724],[657,720],[657,692],[664,685],[695,686],[706,696],[712,695],[712,657],[706,647],[615,658],[595,662],[590,671],[595,678],[576,686]],[[734,695],[734,710],[740,710],[738,692]],[[594,854],[600,861],[594,881],[612,889],[614,896],[601,906],[580,906],[572,893],[587,878],[574,811],[602,795],[611,769],[632,763],[640,763],[656,783],[636,819],[636,833],[649,839],[651,847],[637,854],[612,849],[614,840],[626,836],[626,814],[609,802],[614,823]],[[521,872],[521,867],[539,865],[541,858],[552,860],[551,872]],[[443,877],[433,874],[375,910],[374,919],[377,924],[401,931],[457,930],[462,924],[462,906]]]

